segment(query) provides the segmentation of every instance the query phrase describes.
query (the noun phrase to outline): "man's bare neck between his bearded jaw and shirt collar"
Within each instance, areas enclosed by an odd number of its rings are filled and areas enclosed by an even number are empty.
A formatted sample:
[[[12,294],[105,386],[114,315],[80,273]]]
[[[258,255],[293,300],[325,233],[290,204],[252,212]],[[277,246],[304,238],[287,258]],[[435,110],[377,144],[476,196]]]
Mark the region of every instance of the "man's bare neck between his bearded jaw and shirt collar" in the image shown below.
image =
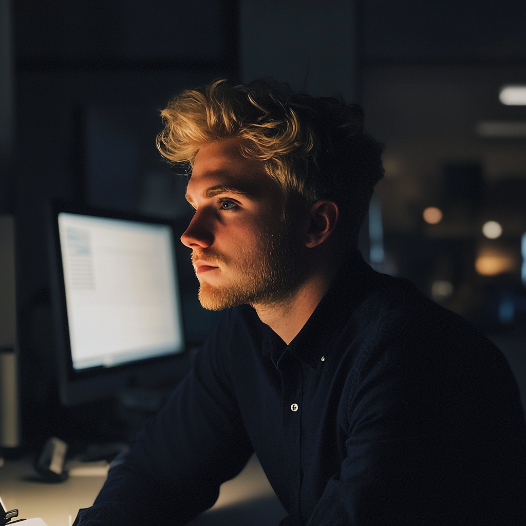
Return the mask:
[[[253,305],[259,319],[289,345],[318,306],[336,272],[335,267],[311,274],[294,296],[287,300]]]

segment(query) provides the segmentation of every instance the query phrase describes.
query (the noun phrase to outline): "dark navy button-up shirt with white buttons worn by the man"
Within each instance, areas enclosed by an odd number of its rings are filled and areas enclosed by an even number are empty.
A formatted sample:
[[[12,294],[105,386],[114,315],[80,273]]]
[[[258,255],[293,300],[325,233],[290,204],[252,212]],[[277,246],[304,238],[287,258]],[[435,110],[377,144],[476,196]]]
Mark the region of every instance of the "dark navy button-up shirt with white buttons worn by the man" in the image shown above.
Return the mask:
[[[524,524],[525,443],[502,353],[356,257],[288,346],[226,311],[75,524],[185,524],[254,451],[283,524]]]

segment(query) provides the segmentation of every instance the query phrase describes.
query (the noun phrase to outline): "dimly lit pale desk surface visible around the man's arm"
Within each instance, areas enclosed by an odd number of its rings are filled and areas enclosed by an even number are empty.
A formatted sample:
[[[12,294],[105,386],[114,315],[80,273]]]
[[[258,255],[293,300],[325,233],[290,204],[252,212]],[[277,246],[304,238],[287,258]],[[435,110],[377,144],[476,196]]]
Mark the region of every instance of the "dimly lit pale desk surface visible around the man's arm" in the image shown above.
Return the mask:
[[[31,458],[6,461],[0,468],[0,495],[20,517],[40,517],[47,526],[70,526],[79,508],[93,504],[105,477],[70,477],[65,482],[39,481]],[[239,475],[221,485],[213,508],[191,526],[277,526],[287,513],[279,503],[256,456]]]

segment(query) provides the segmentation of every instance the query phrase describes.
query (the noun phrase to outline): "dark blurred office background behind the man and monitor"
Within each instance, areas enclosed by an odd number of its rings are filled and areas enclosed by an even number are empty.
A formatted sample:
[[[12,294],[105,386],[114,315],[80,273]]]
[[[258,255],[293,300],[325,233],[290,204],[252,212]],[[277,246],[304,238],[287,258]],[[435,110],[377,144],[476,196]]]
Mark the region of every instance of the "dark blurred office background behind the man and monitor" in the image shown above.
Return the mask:
[[[367,130],[386,144],[363,253],[497,342],[526,402],[526,133],[480,131],[526,123],[526,106],[499,102],[503,85],[526,84],[526,2],[2,0],[1,15],[0,213],[16,218],[29,447],[71,418],[57,398],[46,204],[76,200],[182,229],[185,180],[156,150],[159,110],[217,78],[272,75],[362,104]],[[431,206],[439,224],[423,220]],[[498,239],[483,236],[488,220],[501,224]],[[181,254],[188,337],[198,341],[217,317],[199,306]],[[484,257],[503,270],[480,274]],[[88,421],[100,406],[84,410]],[[94,431],[115,438],[104,432]]]

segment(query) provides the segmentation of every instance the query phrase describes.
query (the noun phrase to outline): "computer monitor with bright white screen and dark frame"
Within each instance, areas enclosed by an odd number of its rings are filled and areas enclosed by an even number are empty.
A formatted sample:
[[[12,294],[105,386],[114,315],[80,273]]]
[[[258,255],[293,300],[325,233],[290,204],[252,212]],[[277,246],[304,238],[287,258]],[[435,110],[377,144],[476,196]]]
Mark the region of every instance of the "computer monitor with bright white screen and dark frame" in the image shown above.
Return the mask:
[[[169,221],[53,203],[49,254],[60,400],[151,388],[187,368]]]

